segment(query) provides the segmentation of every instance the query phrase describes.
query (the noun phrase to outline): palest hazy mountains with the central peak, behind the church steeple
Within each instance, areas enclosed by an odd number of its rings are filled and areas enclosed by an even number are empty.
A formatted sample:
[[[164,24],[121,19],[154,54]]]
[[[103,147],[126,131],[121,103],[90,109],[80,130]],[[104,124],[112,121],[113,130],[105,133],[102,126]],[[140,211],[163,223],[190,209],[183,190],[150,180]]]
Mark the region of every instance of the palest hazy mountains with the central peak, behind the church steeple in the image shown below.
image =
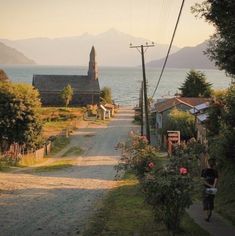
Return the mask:
[[[98,35],[85,33],[81,36],[65,38],[31,38],[21,40],[0,39],[41,65],[85,65],[89,60],[92,45],[97,52],[98,65],[102,66],[137,66],[141,57],[129,44],[152,43],[151,40],[138,38],[116,29],[110,29]],[[146,61],[164,57],[168,45],[157,44],[146,53]],[[179,50],[172,47],[172,53]]]

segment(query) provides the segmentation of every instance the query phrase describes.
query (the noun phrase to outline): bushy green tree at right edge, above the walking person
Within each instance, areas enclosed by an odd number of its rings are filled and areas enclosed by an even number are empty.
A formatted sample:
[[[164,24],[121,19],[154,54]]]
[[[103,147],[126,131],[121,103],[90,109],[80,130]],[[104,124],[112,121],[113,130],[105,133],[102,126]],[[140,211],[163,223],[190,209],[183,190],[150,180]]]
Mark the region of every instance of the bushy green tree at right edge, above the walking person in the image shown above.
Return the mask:
[[[208,114],[210,155],[235,160],[235,85],[212,100]]]

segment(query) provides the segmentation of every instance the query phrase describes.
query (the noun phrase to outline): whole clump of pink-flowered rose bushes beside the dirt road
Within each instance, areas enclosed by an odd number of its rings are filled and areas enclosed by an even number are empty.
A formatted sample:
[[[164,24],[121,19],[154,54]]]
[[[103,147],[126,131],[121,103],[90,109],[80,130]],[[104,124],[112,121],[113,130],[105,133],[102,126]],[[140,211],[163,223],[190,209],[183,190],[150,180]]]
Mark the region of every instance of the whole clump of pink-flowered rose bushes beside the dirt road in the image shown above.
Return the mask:
[[[124,145],[123,156],[117,166],[118,170],[131,169],[136,173],[156,219],[163,221],[173,234],[179,229],[185,208],[192,204],[192,173],[195,163],[197,166],[197,158],[196,154],[190,154],[195,142],[190,145],[177,146],[174,156],[160,167],[156,163],[157,150],[148,145],[146,137],[132,134],[131,140]]]

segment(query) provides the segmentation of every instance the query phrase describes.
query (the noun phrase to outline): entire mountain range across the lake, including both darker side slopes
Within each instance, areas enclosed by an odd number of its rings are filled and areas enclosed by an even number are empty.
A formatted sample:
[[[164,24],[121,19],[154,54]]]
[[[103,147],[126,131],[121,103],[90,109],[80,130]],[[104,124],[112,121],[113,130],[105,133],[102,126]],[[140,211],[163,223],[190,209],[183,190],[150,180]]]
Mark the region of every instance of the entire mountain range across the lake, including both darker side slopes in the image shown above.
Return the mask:
[[[141,64],[140,54],[137,50],[130,49],[129,44],[140,45],[146,42],[152,43],[148,39],[134,37],[116,29],[110,29],[98,35],[85,33],[81,36],[54,39],[0,39],[0,64],[33,64],[36,62],[39,65],[87,66],[89,52],[94,45],[98,65],[138,66]],[[214,64],[203,53],[206,48],[207,41],[195,47],[180,49],[172,46],[167,67],[215,69]],[[162,67],[167,50],[168,45],[166,44],[157,44],[155,47],[149,48],[145,53],[145,61],[148,62],[146,66]]]

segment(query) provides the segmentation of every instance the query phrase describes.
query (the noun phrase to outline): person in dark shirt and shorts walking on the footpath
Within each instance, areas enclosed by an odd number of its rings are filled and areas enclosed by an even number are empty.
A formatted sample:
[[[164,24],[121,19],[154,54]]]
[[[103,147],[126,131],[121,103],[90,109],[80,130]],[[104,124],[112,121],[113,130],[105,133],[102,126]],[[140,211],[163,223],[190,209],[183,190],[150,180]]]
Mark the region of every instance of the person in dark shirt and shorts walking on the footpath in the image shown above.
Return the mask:
[[[213,189],[216,188],[218,182],[218,172],[214,169],[215,160],[208,160],[208,168],[202,170],[201,177],[203,178],[203,210],[206,212],[206,221],[209,222],[214,209],[215,193]]]

